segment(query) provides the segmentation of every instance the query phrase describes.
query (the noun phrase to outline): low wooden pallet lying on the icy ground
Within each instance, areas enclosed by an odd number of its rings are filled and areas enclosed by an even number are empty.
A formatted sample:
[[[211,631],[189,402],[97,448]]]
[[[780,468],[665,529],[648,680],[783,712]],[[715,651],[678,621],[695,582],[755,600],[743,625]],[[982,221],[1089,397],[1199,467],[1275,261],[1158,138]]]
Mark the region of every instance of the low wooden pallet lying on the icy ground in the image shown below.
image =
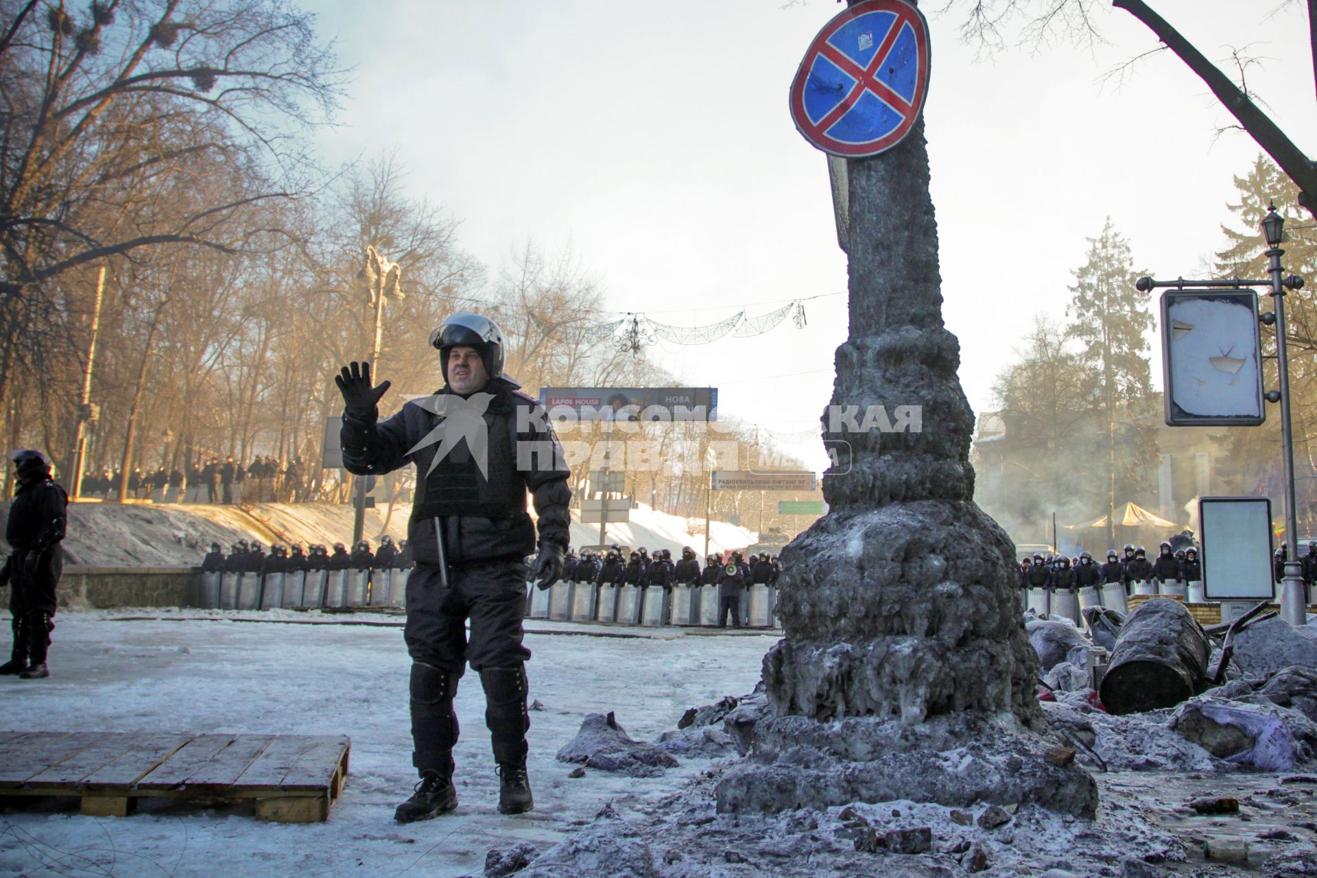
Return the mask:
[[[83,813],[115,817],[142,798],[254,800],[262,820],[317,823],[342,792],[350,746],[346,736],[0,732],[0,796],[78,796]]]

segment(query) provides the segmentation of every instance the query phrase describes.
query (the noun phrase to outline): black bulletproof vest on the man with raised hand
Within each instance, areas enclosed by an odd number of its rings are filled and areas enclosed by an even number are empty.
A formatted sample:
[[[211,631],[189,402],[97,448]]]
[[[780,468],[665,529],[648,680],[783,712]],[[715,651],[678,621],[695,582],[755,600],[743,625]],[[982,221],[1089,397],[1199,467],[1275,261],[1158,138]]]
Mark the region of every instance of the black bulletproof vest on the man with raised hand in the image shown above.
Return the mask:
[[[508,519],[524,513],[525,478],[516,469],[516,449],[512,445],[515,419],[511,396],[495,394],[485,409],[489,478],[481,474],[465,438],[449,448],[437,463],[435,455],[440,442],[419,449],[412,457],[416,463],[412,521],[456,515]],[[425,433],[441,421],[440,416],[427,412]]]

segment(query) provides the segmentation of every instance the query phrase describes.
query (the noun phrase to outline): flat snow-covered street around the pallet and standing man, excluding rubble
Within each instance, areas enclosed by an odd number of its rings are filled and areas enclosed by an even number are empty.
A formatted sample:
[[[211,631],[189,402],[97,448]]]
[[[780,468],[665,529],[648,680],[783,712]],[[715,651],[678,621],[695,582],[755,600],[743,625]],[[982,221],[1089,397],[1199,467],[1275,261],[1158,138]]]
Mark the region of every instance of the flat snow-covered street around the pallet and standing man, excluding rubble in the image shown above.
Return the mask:
[[[154,616],[133,620],[132,616]],[[349,735],[352,765],[324,824],[271,824],[179,806],[124,819],[75,812],[0,813],[0,875],[465,875],[486,852],[518,841],[541,850],[605,803],[640,815],[711,767],[682,760],[661,778],[611,777],[553,757],[586,713],[616,713],[636,738],[676,728],[687,707],[753,688],[776,634],[678,629],[602,633],[528,621],[529,775],[536,810],[497,811],[498,778],[483,694],[468,673],[457,695],[458,810],[399,825],[411,794],[408,658],[396,616],[357,613],[325,624],[255,624],[219,611],[71,612],[57,619],[46,681],[0,678],[0,728]],[[319,613],[266,612],[308,621]],[[344,625],[338,621],[375,621]],[[0,631],[8,619],[0,616]],[[535,629],[558,633],[533,633]],[[582,632],[562,634],[561,632]]]

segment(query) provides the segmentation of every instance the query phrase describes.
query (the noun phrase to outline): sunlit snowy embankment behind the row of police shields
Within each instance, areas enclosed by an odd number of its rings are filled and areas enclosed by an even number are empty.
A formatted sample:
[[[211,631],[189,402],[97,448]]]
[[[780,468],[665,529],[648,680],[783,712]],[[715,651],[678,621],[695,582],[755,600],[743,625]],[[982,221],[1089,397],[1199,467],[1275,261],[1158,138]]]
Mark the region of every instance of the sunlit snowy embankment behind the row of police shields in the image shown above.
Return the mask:
[[[0,519],[8,503],[0,503]],[[533,512],[532,512],[533,513]],[[366,511],[366,537],[378,544],[385,533],[394,540],[407,538],[410,504],[395,504]],[[690,528],[703,528],[703,520],[690,520],[658,512],[640,504],[631,511],[631,521],[610,524],[606,540],[611,544],[669,549],[681,555],[682,546],[703,554],[703,534]],[[319,542],[332,546],[352,540],[352,507],[336,503],[258,503],[224,505],[204,503],[74,503],[68,509],[68,536],[63,541],[66,563],[99,566],[190,566],[200,563],[211,542],[224,550],[238,540],[261,542]],[[710,527],[710,552],[744,549],[759,541],[753,530],[735,524],[714,521]],[[599,525],[581,524],[579,509],[572,511],[572,545],[599,542]],[[8,545],[0,540],[0,550]]]

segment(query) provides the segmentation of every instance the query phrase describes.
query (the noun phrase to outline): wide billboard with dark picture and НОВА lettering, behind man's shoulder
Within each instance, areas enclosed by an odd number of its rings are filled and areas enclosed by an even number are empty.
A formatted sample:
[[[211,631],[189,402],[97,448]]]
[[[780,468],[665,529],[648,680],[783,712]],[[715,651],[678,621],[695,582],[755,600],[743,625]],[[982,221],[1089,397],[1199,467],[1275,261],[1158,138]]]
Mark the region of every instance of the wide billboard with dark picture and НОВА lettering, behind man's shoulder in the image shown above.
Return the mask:
[[[716,387],[545,387],[553,421],[716,421]]]

